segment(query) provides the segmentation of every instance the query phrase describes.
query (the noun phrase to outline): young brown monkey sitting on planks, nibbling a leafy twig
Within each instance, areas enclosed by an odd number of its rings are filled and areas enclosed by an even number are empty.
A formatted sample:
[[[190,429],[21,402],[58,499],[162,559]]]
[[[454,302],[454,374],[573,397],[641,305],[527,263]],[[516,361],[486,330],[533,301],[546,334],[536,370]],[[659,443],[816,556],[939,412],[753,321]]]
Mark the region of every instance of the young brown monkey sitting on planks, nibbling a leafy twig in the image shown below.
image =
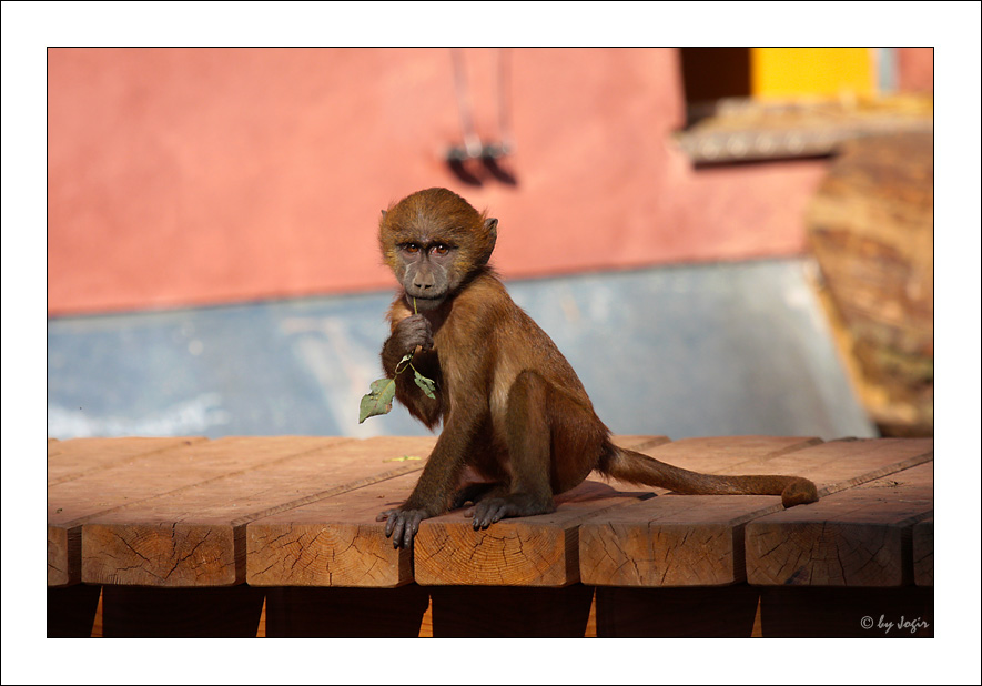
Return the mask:
[[[442,188],[382,212],[378,244],[401,286],[382,366],[415,418],[431,431],[443,423],[409,497],[376,517],[394,547],[412,547],[423,519],[468,503],[475,531],[554,512],[554,496],[594,471],[682,494],[780,495],[786,507],[818,500],[807,478],[701,474],[614,445],[566,357],[488,264],[497,225]],[[411,353],[435,397],[396,374]],[[487,482],[457,490],[465,466]]]

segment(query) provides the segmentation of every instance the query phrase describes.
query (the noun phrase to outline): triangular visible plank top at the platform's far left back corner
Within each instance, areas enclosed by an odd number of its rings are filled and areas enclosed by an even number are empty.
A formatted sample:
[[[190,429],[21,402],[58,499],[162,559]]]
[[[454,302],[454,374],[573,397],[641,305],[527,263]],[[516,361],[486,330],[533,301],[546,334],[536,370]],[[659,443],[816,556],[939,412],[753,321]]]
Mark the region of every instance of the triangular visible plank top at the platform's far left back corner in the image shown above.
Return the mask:
[[[194,437],[164,438],[72,438],[48,441],[48,485],[94,474],[114,465],[128,464],[161,451],[205,441]]]

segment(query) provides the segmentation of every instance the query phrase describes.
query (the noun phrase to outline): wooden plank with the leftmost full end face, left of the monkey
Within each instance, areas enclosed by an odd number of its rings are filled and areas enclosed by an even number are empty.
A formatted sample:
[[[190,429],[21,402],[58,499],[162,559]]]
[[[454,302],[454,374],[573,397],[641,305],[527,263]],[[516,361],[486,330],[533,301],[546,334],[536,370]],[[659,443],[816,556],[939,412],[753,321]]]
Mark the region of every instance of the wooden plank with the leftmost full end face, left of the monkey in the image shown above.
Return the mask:
[[[82,581],[242,583],[250,522],[422,468],[422,461],[384,462],[379,453],[398,442],[283,437],[213,447],[212,461],[249,466],[90,518],[82,526]]]

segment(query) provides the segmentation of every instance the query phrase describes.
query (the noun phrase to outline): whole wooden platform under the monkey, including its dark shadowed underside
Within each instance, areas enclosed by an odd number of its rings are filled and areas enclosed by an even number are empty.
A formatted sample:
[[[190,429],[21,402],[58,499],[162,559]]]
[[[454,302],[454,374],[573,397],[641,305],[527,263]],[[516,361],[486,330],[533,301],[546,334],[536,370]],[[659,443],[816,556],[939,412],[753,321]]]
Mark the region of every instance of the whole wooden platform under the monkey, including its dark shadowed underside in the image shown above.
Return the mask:
[[[933,440],[617,442],[822,498],[595,476],[411,552],[375,516],[434,437],[49,440],[49,636],[933,636]]]

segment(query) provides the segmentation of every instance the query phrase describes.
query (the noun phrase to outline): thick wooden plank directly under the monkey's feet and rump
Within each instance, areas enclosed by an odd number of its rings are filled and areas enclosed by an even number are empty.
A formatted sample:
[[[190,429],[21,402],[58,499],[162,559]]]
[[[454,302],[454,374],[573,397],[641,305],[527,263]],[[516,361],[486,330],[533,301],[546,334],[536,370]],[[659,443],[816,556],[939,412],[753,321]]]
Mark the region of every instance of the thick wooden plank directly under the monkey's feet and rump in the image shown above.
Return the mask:
[[[666,443],[664,436],[615,437],[634,450]],[[625,491],[618,490],[620,486]],[[639,497],[644,487],[588,480],[556,497],[554,513],[504,519],[475,532],[464,511],[424,521],[415,542],[421,585],[547,586],[579,581],[577,529],[585,518]]]

